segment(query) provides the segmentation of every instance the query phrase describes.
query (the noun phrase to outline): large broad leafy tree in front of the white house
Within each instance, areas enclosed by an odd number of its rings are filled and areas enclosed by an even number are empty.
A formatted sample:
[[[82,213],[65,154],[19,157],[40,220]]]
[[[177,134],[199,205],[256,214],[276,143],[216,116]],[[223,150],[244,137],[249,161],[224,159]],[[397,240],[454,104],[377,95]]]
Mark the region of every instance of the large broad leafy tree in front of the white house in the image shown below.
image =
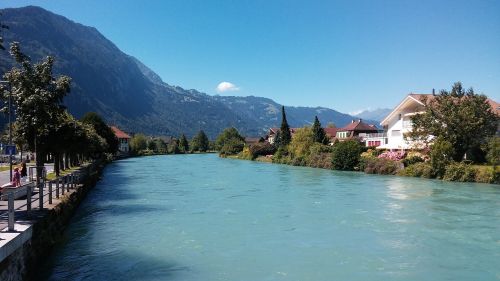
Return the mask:
[[[442,90],[432,99],[423,100],[425,112],[412,117],[413,130],[409,137],[426,140],[442,137],[454,148],[452,158],[461,161],[464,154],[479,148],[495,134],[499,117],[492,111],[485,95],[464,90],[457,82],[451,91]]]

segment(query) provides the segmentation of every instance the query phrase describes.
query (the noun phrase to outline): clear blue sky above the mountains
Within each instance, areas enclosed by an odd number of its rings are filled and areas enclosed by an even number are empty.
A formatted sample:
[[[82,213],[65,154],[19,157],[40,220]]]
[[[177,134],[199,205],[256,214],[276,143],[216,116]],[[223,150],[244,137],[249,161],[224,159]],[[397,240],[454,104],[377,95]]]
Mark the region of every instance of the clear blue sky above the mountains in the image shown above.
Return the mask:
[[[165,82],[211,95],[355,112],[462,81],[500,100],[497,0],[0,2],[26,5],[94,26]]]

